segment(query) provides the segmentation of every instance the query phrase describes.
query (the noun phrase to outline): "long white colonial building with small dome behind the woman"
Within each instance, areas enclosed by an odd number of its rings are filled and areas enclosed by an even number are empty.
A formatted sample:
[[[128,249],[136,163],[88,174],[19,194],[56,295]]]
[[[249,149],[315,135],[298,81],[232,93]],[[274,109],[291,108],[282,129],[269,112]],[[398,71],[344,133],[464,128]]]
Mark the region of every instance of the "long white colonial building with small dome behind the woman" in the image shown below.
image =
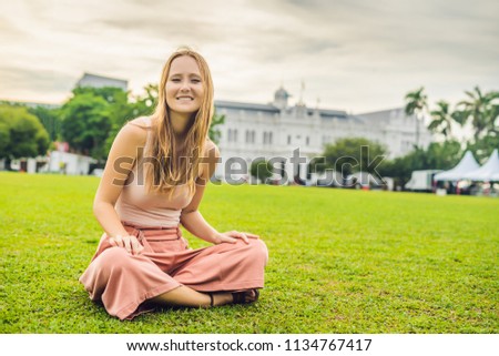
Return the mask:
[[[222,134],[217,177],[227,180],[228,174],[236,173],[232,179],[238,181],[247,176],[251,162],[259,157],[283,162],[281,167],[287,177],[293,177],[297,167],[292,157],[297,149],[299,156],[309,161],[320,156],[326,144],[342,138],[366,138],[384,144],[388,159],[407,154],[416,144],[427,148],[432,140],[426,125],[415,115],[407,116],[403,108],[347,114],[307,108],[303,101],[289,106],[288,98],[281,88],[268,104],[215,101],[216,113],[225,115],[225,122],[217,128]],[[302,177],[306,175],[305,166],[306,163],[301,164]],[[279,169],[279,164],[274,167]]]

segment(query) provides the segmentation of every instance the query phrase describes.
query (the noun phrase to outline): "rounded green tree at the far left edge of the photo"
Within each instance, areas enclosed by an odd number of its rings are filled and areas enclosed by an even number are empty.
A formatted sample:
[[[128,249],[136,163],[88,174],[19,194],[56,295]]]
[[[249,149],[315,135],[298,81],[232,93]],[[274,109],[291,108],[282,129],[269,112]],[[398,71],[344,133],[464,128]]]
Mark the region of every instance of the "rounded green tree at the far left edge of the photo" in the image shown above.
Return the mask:
[[[50,140],[37,116],[22,106],[0,105],[0,159],[10,169],[13,159],[45,154]]]

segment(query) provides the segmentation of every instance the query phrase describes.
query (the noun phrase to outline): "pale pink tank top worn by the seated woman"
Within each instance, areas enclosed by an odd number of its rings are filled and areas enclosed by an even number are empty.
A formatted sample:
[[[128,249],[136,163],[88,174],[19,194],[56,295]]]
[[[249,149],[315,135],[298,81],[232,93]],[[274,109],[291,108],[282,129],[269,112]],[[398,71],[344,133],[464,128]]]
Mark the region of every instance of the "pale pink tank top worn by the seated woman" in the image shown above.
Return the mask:
[[[150,119],[144,119],[144,124],[150,126]],[[121,221],[144,227],[177,226],[182,208],[191,202],[187,186],[176,187],[171,197],[167,194],[147,193],[144,177],[139,176],[138,171],[135,163],[133,175],[129,176],[118,199],[115,210]]]

